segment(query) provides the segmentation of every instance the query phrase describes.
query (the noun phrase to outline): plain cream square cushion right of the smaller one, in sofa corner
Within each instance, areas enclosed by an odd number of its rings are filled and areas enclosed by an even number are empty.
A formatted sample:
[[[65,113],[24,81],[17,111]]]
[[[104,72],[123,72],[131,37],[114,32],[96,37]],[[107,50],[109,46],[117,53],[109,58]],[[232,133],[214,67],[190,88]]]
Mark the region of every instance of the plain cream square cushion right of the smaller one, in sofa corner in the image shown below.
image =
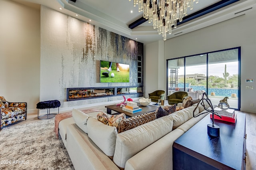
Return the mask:
[[[87,121],[89,138],[110,158],[113,157],[116,146],[116,127],[105,125],[90,117]]]

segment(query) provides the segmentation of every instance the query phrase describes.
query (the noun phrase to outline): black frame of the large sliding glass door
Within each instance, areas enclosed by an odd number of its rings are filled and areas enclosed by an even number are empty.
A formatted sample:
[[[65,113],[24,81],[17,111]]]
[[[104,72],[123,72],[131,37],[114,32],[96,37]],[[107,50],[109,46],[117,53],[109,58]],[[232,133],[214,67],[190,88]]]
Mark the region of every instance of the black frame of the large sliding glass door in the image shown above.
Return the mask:
[[[184,59],[184,88],[186,87],[186,57],[193,57],[196,55],[206,55],[206,94],[208,94],[208,55],[209,53],[216,53],[216,52],[221,52],[221,51],[228,51],[232,49],[238,49],[238,109],[235,110],[240,110],[241,107],[241,47],[234,47],[234,48],[229,48],[229,49],[222,49],[222,50],[217,50],[217,51],[211,51],[211,52],[206,52],[206,53],[199,53],[199,54],[194,54],[194,55],[188,55],[184,57],[177,57],[177,58],[172,58],[172,59],[166,59],[166,93],[168,94],[168,61],[174,60],[174,59]]]

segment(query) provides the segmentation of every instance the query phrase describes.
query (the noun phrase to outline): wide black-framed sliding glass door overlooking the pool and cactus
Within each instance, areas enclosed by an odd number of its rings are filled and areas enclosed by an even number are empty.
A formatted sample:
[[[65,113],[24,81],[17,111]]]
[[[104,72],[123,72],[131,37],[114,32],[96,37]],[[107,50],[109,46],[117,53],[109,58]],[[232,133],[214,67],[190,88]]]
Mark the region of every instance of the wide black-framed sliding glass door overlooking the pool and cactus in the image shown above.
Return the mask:
[[[240,109],[240,47],[167,60],[167,91],[205,91],[213,105],[228,97]],[[192,95],[192,93],[191,93]]]

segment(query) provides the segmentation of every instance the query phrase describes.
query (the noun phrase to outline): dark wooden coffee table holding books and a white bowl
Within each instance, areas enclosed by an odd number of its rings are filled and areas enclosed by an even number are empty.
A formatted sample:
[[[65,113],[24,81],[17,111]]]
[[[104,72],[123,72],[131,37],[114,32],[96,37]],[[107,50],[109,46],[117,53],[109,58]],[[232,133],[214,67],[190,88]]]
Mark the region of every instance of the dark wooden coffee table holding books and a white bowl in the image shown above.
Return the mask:
[[[137,105],[142,109],[141,112],[129,113],[129,112],[123,111],[122,107],[116,106],[116,105],[109,105],[105,107],[107,108],[108,114],[111,114],[112,111],[115,111],[117,113],[124,113],[127,117],[133,117],[133,116],[141,115],[143,113],[153,112],[153,111],[156,111],[156,109],[159,107],[154,105],[142,106],[140,103],[138,103]]]

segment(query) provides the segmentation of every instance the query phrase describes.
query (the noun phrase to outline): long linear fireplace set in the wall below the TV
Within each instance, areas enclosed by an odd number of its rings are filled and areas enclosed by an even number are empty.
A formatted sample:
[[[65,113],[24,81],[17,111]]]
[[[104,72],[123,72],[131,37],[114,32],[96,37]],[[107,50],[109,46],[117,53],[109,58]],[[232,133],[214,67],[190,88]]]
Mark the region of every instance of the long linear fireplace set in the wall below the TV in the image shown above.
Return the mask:
[[[132,94],[143,96],[143,86],[67,88],[67,101]]]

